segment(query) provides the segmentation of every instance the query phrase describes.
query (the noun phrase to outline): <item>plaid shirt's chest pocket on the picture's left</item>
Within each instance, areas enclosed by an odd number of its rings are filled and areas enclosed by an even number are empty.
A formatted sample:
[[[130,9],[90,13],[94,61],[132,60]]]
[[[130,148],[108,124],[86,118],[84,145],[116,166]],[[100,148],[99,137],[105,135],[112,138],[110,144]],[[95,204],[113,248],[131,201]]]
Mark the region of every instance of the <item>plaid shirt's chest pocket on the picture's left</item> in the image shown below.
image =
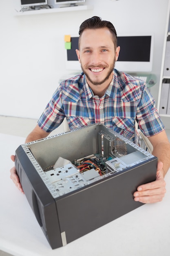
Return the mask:
[[[92,121],[88,117],[71,116],[71,117],[68,117],[67,123],[68,123],[69,128],[72,130],[75,128],[88,126],[88,125],[92,124]]]

